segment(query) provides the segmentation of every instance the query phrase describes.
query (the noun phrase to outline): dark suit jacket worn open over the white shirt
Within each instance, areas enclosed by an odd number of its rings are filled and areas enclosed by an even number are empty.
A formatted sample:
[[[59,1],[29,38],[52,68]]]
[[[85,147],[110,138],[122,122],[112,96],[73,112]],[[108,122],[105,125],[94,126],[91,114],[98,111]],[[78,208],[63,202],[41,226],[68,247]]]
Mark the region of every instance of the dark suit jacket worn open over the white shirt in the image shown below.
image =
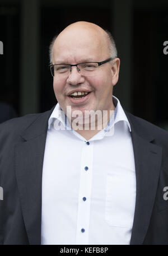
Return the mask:
[[[0,244],[41,243],[41,180],[52,111],[0,125]],[[168,133],[125,114],[132,129],[137,180],[130,244],[168,244],[168,201],[163,198],[168,186]]]

